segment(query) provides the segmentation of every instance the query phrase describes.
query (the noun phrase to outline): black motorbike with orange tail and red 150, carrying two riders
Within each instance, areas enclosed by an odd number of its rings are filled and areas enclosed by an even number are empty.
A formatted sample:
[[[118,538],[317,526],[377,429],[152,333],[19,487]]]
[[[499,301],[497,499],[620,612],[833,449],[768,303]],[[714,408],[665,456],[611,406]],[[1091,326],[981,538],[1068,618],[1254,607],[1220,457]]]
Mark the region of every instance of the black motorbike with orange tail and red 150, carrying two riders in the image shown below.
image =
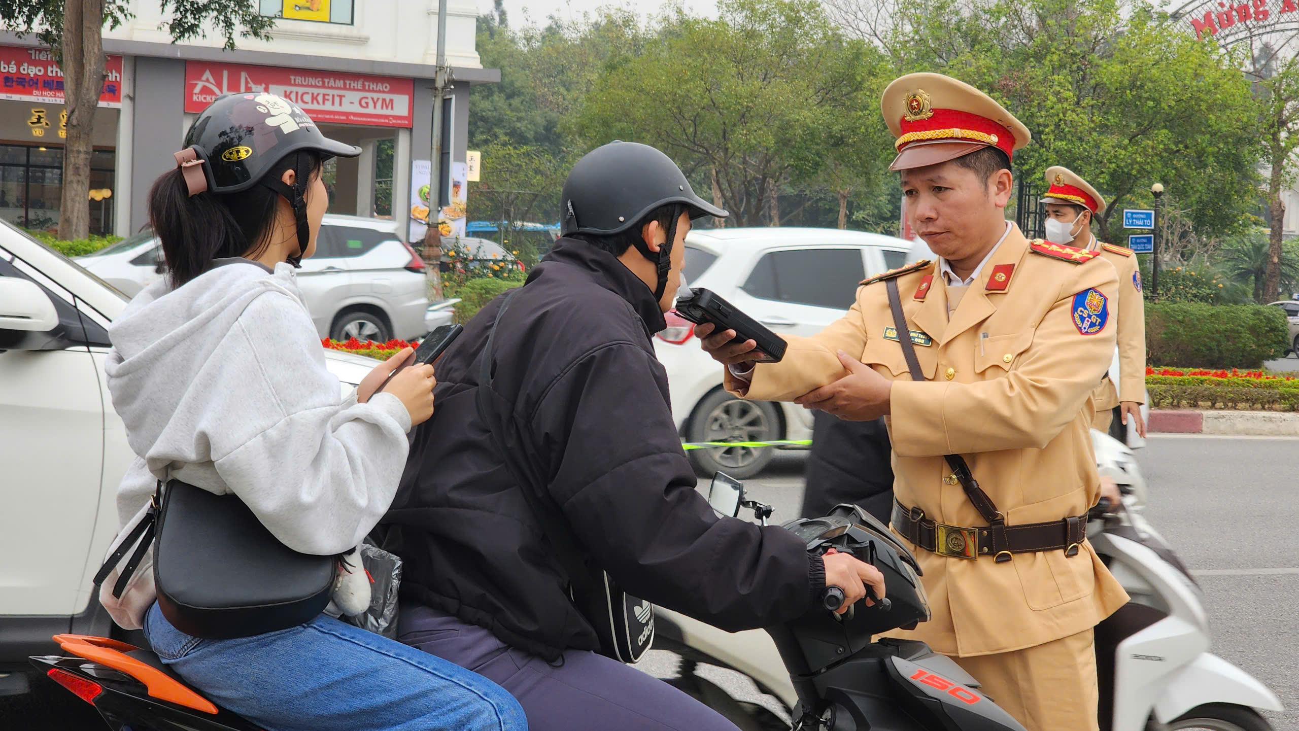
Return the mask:
[[[747,506],[765,522],[772,513],[744,500],[743,484],[724,475],[713,480],[709,499],[731,515]],[[887,527],[855,505],[785,527],[809,552],[852,553],[886,579],[883,597],[868,593],[873,605],[859,602],[837,613],[844,595],[827,587],[820,606],[765,631],[798,704],[794,728],[1025,731],[979,692],[974,678],[924,643],[873,640],[930,618],[916,558]],[[68,654],[32,657],[32,665],[92,704],[113,731],[257,731],[188,688],[148,650],[107,638],[55,639]]]

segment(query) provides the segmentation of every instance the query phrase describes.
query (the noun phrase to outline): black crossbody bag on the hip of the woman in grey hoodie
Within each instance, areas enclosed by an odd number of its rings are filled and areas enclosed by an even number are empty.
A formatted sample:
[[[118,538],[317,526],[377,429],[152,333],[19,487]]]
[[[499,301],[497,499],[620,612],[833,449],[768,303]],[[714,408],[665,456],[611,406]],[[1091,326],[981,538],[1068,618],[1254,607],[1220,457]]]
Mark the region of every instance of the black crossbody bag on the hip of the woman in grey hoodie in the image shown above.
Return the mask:
[[[325,610],[336,556],[297,553],[235,495],[169,480],[95,575],[97,588],[135,545],[113,586],[121,597],[153,545],[158,609],[195,638],[249,638],[304,625]]]

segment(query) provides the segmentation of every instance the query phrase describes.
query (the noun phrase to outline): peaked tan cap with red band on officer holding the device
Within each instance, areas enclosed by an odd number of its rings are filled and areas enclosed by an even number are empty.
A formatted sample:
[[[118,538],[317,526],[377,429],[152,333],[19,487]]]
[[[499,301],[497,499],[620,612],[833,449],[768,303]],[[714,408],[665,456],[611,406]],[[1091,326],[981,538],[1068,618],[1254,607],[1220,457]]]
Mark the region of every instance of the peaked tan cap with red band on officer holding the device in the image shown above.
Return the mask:
[[[890,170],[909,170],[995,147],[1015,158],[1033,135],[992,97],[942,74],[907,74],[879,100],[898,158]]]

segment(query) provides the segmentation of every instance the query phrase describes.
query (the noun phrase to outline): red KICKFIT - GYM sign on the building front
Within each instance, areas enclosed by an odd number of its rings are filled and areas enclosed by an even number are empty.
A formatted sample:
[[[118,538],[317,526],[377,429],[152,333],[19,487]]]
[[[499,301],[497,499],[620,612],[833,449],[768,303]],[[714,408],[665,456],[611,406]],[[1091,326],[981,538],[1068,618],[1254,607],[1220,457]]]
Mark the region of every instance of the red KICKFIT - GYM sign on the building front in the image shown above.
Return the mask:
[[[414,81],[313,69],[186,61],[184,110],[203,112],[222,93],[266,91],[296,104],[316,122],[409,127]]]

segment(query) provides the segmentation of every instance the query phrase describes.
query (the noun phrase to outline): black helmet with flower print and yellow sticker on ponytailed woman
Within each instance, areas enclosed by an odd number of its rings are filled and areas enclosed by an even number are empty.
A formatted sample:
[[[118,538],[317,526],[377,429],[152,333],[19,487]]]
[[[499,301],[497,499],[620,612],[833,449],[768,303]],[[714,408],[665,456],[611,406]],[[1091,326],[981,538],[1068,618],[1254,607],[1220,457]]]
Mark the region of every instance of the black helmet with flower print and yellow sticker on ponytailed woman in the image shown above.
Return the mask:
[[[322,160],[356,157],[361,148],[331,140],[296,104],[269,92],[243,92],[218,96],[199,113],[184,135],[184,149],[175,153],[184,173],[190,195],[203,191],[236,193],[252,186],[265,186],[294,208],[297,225],[299,266],[310,243],[307,223],[307,186],[312,170],[310,152]],[[266,173],[281,160],[296,155],[292,187]]]

